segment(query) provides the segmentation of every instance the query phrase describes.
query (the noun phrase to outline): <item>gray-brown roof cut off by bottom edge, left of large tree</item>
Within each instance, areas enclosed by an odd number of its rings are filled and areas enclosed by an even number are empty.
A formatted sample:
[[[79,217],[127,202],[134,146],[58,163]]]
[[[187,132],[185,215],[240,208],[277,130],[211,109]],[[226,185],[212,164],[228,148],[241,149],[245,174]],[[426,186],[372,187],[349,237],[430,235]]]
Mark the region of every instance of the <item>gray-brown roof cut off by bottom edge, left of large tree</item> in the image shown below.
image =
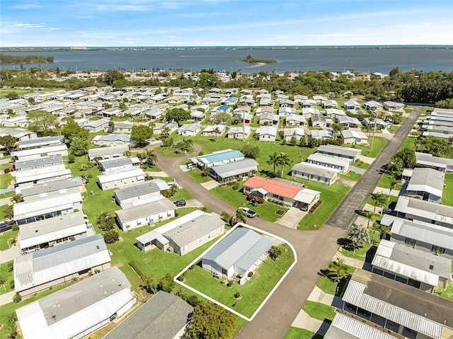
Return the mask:
[[[104,339],[173,339],[188,323],[193,307],[164,291],[159,291],[120,323]]]

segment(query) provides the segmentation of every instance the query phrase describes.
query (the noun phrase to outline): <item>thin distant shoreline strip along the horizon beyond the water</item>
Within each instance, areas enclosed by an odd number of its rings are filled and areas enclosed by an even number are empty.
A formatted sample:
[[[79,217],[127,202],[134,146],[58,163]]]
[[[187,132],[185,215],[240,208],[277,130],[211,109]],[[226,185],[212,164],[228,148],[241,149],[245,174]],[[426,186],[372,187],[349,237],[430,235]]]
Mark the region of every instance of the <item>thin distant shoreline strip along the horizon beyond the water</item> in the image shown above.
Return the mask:
[[[451,50],[453,45],[325,45],[325,46],[104,46],[104,47],[0,47],[0,52],[91,52],[124,50]]]

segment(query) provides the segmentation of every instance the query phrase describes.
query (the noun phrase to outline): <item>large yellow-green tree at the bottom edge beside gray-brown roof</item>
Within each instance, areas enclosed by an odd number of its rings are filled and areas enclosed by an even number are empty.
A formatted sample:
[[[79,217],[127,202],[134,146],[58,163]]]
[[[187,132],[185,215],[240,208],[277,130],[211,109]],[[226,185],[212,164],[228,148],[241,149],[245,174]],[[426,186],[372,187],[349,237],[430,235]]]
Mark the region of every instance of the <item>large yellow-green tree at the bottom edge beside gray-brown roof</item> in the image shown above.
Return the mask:
[[[232,339],[236,316],[223,307],[205,301],[193,309],[188,330],[190,339]]]

